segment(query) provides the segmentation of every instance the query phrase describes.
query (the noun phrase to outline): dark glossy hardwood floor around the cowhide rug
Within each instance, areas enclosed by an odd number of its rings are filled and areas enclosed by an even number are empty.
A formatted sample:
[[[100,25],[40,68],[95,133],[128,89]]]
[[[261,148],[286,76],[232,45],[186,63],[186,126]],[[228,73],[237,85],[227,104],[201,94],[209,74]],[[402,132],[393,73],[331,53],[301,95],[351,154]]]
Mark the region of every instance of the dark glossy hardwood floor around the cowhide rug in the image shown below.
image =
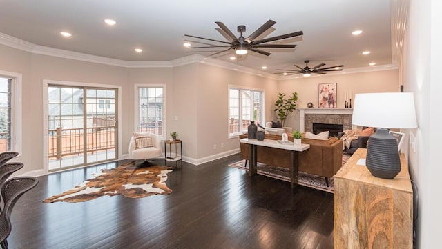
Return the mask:
[[[334,196],[227,166],[169,173],[171,195],[48,203],[107,163],[38,177],[12,210],[10,248],[333,248]],[[121,161],[120,163],[124,163]],[[157,163],[164,165],[163,160]]]

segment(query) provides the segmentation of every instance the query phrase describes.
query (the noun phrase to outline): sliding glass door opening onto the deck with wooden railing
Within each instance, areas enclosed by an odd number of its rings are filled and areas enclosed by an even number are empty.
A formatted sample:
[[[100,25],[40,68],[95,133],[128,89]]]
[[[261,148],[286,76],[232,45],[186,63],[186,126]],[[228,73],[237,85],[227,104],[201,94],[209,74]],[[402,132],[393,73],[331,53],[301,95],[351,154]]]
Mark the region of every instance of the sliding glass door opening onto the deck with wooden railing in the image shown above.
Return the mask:
[[[117,159],[117,89],[48,86],[49,171]]]

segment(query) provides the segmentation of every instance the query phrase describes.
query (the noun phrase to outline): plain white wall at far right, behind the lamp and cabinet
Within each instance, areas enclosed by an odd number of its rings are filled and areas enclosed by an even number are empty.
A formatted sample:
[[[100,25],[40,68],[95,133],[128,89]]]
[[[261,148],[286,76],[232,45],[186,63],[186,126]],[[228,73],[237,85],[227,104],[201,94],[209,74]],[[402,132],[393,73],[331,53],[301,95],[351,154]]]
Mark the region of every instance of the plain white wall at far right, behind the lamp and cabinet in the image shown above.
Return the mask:
[[[419,189],[416,248],[436,248],[442,223],[440,146],[442,92],[442,5],[438,0],[411,0],[402,67],[405,92],[414,92],[419,128],[416,151],[408,148],[410,174]]]

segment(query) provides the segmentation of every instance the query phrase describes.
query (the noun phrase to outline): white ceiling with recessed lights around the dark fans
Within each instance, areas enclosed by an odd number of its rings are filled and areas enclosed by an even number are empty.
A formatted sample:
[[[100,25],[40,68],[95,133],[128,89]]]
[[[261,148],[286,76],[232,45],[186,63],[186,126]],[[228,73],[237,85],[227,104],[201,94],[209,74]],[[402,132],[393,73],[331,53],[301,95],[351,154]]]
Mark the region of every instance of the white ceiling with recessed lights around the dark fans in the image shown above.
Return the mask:
[[[349,69],[366,67],[372,61],[377,66],[392,64],[391,1],[1,0],[0,32],[37,46],[99,57],[172,61],[195,54],[182,45],[188,39],[184,34],[224,41],[215,30],[215,21],[238,37],[236,27],[245,25],[247,37],[272,19],[276,24],[266,37],[304,32],[302,37],[283,42],[296,44],[296,48],[263,49],[272,53],[269,57],[249,52],[235,63],[269,73],[280,72],[276,68],[296,70],[293,65],[304,66],[306,59],[311,61],[309,66],[343,64]],[[107,18],[117,24],[107,26],[103,21]],[[354,37],[353,30],[363,33]],[[73,36],[61,37],[61,31]],[[135,47],[144,51],[137,54]],[[365,56],[364,50],[372,53]],[[231,62],[230,55],[217,59]]]

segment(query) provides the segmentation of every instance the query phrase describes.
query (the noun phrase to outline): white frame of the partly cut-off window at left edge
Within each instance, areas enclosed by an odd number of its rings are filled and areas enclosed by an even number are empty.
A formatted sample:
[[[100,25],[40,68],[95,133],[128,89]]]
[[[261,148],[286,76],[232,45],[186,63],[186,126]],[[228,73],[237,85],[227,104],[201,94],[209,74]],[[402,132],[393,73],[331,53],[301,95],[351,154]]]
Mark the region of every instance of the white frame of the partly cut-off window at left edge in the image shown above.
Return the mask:
[[[11,79],[11,117],[10,117],[10,150],[18,152],[19,155],[17,157],[21,157],[22,147],[21,147],[21,139],[22,139],[22,126],[21,126],[21,83],[22,83],[22,75],[15,72],[7,72],[0,70],[0,77]]]

